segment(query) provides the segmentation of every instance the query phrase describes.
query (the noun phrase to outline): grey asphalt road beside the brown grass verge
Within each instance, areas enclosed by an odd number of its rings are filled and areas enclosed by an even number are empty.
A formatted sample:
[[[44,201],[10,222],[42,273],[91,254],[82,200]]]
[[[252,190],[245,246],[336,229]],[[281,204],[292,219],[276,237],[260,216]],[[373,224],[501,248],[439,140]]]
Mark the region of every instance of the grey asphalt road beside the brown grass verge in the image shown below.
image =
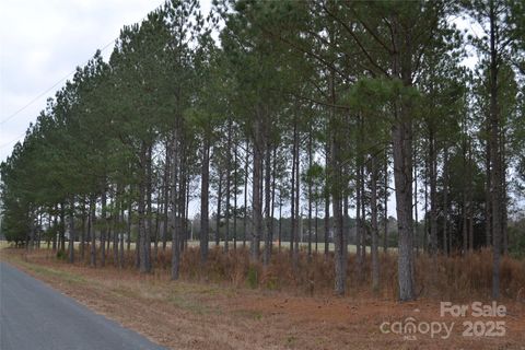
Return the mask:
[[[0,262],[1,350],[163,349]]]

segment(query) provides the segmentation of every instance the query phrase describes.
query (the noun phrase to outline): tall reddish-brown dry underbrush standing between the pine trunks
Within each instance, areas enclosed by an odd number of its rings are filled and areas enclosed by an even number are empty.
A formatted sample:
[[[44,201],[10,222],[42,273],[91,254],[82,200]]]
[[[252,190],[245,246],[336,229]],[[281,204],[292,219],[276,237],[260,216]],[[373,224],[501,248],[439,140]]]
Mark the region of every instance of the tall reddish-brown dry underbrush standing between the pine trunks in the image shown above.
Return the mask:
[[[23,250],[25,252],[25,250]],[[89,248],[83,261],[89,265]],[[152,252],[153,253],[153,252]],[[67,264],[48,249],[32,253],[46,259]],[[113,252],[106,252],[106,266],[116,266]],[[75,252],[77,264],[79,253]],[[126,270],[136,271],[135,252],[125,254]],[[100,267],[98,252],[97,264]],[[152,258],[154,276],[167,276],[171,268],[171,249],[159,249]],[[373,294],[376,298],[397,300],[397,255],[380,254],[381,287]],[[492,254],[481,249],[465,256],[430,257],[420,254],[415,260],[415,279],[418,298],[439,300],[490,300],[492,288]],[[354,254],[349,254],[347,266],[347,294],[358,296],[372,293],[371,258],[366,256],[362,268],[358,268]],[[180,278],[187,281],[228,284],[234,288],[285,291],[296,295],[330,295],[334,288],[334,254],[313,254],[300,252],[294,261],[289,250],[273,252],[271,262],[262,266],[253,264],[247,248],[224,253],[221,247],[209,250],[208,261],[200,262],[198,247],[184,250],[180,261]],[[500,266],[500,287],[503,298],[525,301],[525,259],[503,256]]]

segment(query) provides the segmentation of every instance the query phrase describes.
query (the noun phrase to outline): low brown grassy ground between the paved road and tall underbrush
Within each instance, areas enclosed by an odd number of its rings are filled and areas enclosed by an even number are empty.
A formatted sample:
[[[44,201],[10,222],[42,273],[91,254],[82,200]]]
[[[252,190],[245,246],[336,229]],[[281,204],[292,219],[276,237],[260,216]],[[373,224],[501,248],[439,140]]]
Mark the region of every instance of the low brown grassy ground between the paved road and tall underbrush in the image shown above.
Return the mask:
[[[307,298],[173,282],[162,270],[144,276],[135,269],[69,265],[47,249],[27,255],[23,249],[2,248],[0,258],[172,349],[525,350],[525,304],[520,301],[500,301],[499,305],[506,307],[502,317],[475,317],[474,301],[460,303],[469,307],[465,317],[442,317],[441,301],[432,299],[398,303],[364,293]],[[418,331],[393,331],[410,322]],[[474,325],[471,336],[464,335],[469,332],[468,322]],[[492,329],[495,322],[502,322],[502,327]],[[444,326],[452,326],[448,337]],[[504,336],[482,336],[489,330],[501,334],[503,328]]]

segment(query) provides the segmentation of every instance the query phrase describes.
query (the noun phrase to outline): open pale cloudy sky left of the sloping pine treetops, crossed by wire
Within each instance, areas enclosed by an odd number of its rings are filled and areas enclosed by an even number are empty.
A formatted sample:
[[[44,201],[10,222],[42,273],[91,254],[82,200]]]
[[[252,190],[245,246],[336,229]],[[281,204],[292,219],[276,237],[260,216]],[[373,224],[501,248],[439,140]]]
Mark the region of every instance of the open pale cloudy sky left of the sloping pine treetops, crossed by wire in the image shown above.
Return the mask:
[[[96,49],[117,38],[125,24],[141,21],[161,3],[162,0],[1,0],[0,162],[23,139],[30,122],[45,108],[46,100],[63,85],[63,78],[70,78],[77,66],[83,66]],[[104,57],[112,49],[113,44],[103,51]],[[40,94],[44,95],[34,101]]]

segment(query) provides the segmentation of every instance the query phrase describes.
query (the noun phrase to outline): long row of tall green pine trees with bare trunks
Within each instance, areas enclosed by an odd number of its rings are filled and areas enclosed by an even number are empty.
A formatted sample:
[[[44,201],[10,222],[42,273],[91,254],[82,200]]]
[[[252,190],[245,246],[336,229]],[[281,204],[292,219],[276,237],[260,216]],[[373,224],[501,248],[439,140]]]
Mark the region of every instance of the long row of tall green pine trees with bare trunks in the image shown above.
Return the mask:
[[[171,242],[177,279],[192,202],[202,261],[210,238],[229,252],[242,231],[252,261],[270,264],[282,217],[294,261],[303,213],[308,255],[313,240],[335,244],[342,294],[350,214],[376,290],[394,195],[400,300],[416,298],[419,247],[493,246],[498,298],[525,180],[524,13],[512,0],[242,0],[203,16],[167,1],[121,30],[107,62],[79,67],[1,164],[2,230],[30,248],[42,228],[60,250],[69,237],[71,262],[78,237],[92,266],[112,241],[122,266],[137,228],[140,271]],[[458,30],[462,16],[483,34]],[[474,50],[478,65],[462,66]]]

